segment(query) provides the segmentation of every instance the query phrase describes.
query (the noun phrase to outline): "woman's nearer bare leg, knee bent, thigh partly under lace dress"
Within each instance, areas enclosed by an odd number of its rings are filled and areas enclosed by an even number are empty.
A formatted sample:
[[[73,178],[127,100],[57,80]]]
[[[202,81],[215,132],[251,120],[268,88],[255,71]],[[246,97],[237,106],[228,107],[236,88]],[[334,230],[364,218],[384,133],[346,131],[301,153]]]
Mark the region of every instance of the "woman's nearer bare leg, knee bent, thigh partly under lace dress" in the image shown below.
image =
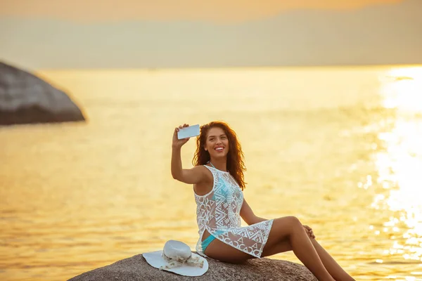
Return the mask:
[[[279,244],[286,239],[290,242],[293,252],[298,256],[298,259],[302,261],[318,280],[334,281],[333,277],[331,277],[330,273],[324,267],[321,259],[319,259],[302,223],[294,216],[274,219],[264,251],[265,249],[280,247]],[[234,249],[217,239],[210,243],[205,254],[212,259],[226,262],[241,262],[252,258],[252,256]]]

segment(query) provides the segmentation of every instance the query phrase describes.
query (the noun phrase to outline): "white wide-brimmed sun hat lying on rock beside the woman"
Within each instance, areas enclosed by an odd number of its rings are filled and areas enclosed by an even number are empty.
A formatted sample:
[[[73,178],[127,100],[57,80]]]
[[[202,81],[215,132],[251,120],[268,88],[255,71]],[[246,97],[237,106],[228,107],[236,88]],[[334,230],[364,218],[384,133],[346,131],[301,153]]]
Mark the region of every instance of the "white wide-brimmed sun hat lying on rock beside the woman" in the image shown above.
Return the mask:
[[[169,240],[162,251],[142,254],[150,266],[184,276],[200,276],[207,272],[208,262],[202,256],[192,253],[184,242]]]

